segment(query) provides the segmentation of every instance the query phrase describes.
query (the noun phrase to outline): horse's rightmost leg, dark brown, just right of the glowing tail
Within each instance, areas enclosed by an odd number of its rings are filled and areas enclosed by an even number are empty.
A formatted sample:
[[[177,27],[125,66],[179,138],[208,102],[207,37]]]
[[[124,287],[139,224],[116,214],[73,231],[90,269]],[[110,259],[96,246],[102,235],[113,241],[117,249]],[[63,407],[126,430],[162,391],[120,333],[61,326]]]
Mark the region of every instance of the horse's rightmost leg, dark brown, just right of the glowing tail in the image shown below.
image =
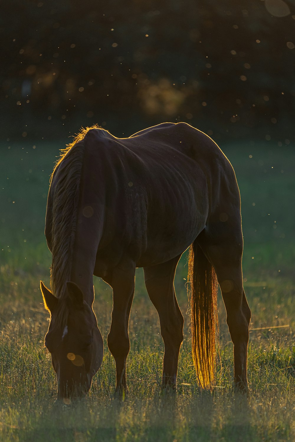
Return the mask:
[[[234,344],[235,386],[236,389],[247,390],[247,349],[251,310],[243,288],[241,228],[226,229],[213,237],[209,225],[207,232],[203,231],[198,236],[198,243],[215,268],[226,307],[226,323]]]

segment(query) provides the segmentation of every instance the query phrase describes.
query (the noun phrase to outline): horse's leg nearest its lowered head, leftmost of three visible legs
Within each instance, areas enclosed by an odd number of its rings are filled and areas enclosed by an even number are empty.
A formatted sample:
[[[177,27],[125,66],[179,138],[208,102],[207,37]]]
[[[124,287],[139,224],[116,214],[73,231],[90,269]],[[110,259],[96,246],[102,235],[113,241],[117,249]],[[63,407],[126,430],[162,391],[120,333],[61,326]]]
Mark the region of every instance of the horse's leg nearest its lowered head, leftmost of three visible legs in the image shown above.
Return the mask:
[[[116,392],[128,392],[126,384],[126,358],[130,350],[128,324],[134,296],[135,265],[132,269],[116,268],[112,272],[110,285],[113,289],[111,328],[107,335],[107,346],[116,363]]]

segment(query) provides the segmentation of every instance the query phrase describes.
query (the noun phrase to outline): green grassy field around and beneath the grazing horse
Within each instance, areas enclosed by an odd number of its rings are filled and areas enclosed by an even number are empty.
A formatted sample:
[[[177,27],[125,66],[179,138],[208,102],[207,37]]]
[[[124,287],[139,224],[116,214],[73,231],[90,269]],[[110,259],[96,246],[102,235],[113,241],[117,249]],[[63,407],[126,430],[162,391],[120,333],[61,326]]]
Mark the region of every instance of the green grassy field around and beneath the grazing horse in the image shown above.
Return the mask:
[[[46,196],[55,157],[64,145],[0,145],[0,440],[294,441],[294,149],[253,142],[222,146],[242,199],[244,285],[253,315],[248,399],[233,392],[232,344],[220,297],[216,387],[212,393],[196,387],[183,256],[175,282],[185,316],[177,393],[160,389],[163,344],[157,312],[138,269],[130,316],[129,396],[124,401],[113,397],[115,364],[106,345],[111,290],[96,278],[103,364],[87,399],[62,408],[54,404],[57,385],[44,348],[48,314],[39,280],[49,285]]]

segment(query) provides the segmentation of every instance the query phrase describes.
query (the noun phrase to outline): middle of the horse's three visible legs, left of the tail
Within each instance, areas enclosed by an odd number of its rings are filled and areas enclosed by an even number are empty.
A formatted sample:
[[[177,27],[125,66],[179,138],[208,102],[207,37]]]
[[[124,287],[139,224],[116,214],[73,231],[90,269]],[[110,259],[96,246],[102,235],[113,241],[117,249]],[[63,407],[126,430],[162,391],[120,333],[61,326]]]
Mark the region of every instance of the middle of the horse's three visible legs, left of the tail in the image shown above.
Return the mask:
[[[165,345],[162,385],[176,388],[177,365],[183,341],[184,317],[174,290],[174,277],[180,256],[152,267],[144,267],[149,298],[157,309]]]

